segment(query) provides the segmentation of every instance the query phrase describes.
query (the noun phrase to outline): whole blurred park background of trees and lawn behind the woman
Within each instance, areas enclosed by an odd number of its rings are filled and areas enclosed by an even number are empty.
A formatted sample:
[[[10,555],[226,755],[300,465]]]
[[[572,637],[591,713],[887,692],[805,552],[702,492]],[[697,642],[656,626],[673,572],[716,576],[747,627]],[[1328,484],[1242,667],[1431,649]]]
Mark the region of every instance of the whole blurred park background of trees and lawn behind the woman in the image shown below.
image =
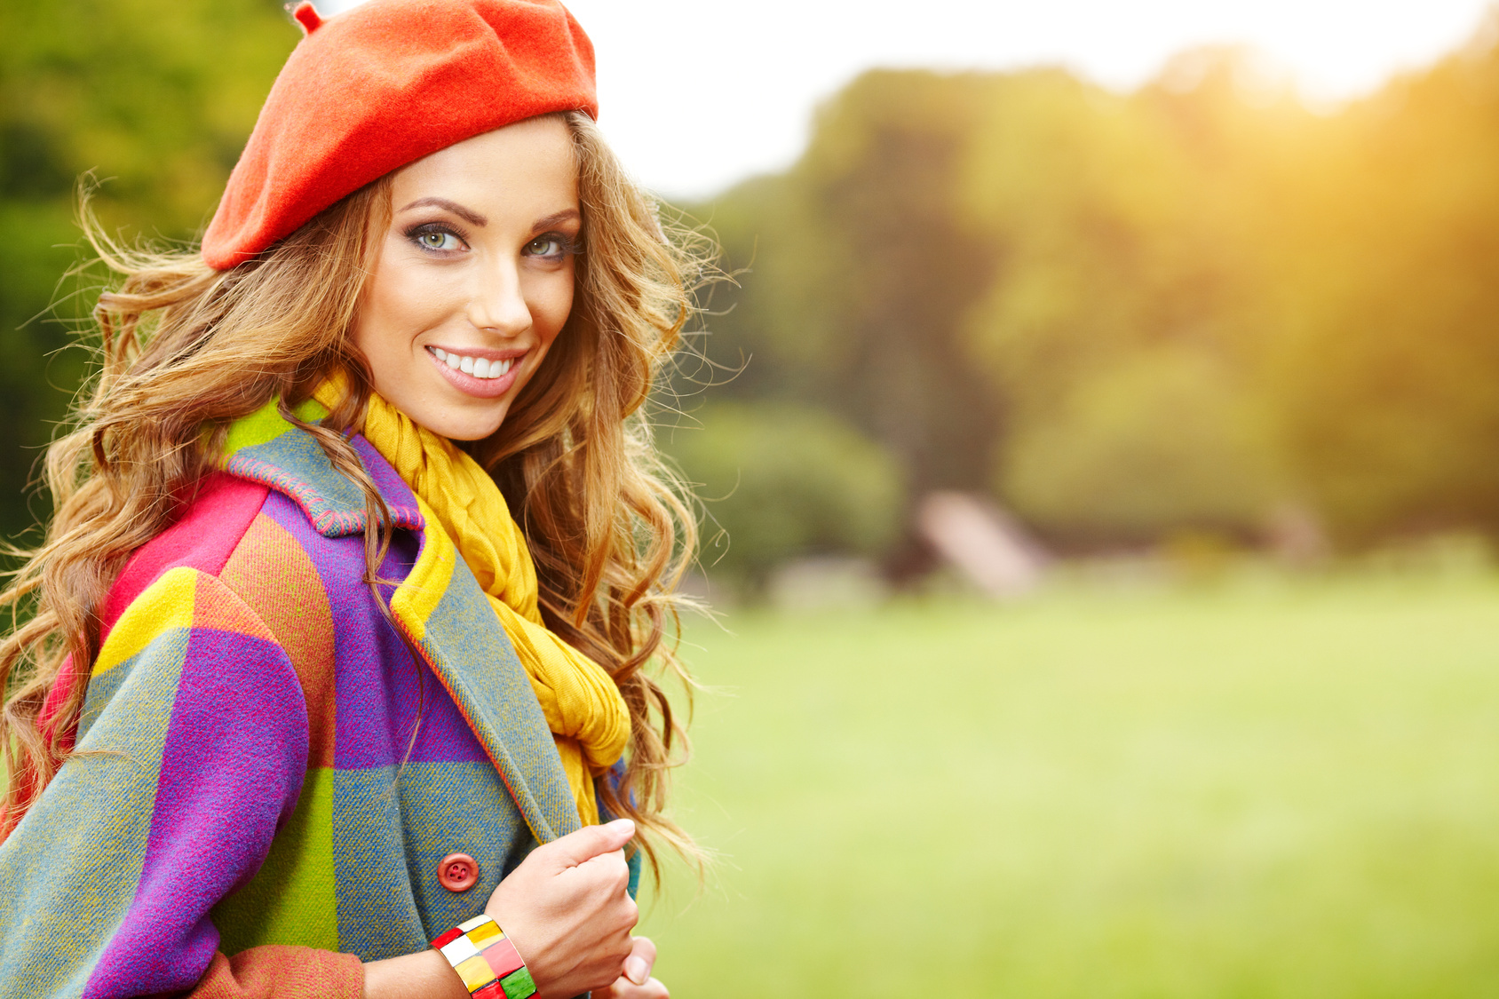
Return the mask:
[[[0,39],[28,543],[105,280],[78,177],[192,238],[297,28],[18,0]],[[699,44],[682,87],[733,39]],[[679,806],[718,861],[648,888],[673,993],[1499,992],[1496,182],[1489,18],[1339,100],[1232,44],[1130,86],[877,68],[794,162],[670,198],[723,248],[652,411],[720,609]],[[934,494],[1043,574],[979,592]]]

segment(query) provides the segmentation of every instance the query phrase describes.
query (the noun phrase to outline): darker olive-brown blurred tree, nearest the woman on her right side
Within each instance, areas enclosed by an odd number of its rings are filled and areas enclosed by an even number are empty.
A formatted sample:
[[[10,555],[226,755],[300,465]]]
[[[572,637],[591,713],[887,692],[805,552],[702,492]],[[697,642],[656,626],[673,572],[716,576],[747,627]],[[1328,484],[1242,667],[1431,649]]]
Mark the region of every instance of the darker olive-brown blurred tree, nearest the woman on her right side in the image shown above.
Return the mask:
[[[830,408],[887,447],[914,490],[980,488],[998,411],[961,320],[992,250],[962,225],[958,170],[989,82],[871,72],[821,110],[781,177],[694,212],[744,270],[711,322],[724,388]]]

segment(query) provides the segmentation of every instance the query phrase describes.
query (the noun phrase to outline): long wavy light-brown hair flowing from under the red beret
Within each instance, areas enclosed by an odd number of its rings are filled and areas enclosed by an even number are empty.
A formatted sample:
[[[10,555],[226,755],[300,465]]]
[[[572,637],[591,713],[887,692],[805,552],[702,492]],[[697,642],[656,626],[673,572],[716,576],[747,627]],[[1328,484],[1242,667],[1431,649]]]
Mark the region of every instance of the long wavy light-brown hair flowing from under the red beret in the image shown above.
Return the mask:
[[[556,117],[573,136],[583,214],[573,312],[499,430],[465,447],[526,532],[547,627],[603,664],[630,706],[628,766],[598,790],[609,812],[640,825],[655,867],[652,840],[694,854],[664,814],[685,730],[646,666],[678,674],[690,693],[675,654],[673,590],[693,556],[696,522],[682,483],[657,458],[645,405],[694,314],[706,244],[679,226],[667,236],[588,116]],[[0,690],[10,692],[0,712],[10,777],[0,836],[72,752],[109,586],[130,554],[193,501],[234,420],[279,399],[363,489],[366,582],[376,585],[393,528],[348,441],[372,384],[349,330],[372,234],[390,210],[387,177],[217,272],[196,252],[112,243],[85,204],[85,234],[123,280],[94,309],[102,350],[93,390],[46,452],[55,513],[45,540],[0,592],[12,612],[0,640]],[[354,388],[345,404],[321,424],[297,420],[292,408],[334,370]]]

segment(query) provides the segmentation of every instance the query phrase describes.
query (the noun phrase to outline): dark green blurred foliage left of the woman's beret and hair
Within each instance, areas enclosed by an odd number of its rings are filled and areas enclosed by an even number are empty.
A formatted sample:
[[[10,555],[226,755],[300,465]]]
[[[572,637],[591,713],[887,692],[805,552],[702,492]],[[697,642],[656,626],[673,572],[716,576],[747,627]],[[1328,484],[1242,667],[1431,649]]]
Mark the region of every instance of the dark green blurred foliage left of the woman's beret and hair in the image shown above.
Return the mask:
[[[84,378],[87,354],[64,348],[102,280],[61,280],[85,256],[76,180],[97,171],[100,219],[127,238],[193,237],[298,32],[274,0],[7,0],[0,38],[0,536],[15,537],[43,513],[24,486]]]

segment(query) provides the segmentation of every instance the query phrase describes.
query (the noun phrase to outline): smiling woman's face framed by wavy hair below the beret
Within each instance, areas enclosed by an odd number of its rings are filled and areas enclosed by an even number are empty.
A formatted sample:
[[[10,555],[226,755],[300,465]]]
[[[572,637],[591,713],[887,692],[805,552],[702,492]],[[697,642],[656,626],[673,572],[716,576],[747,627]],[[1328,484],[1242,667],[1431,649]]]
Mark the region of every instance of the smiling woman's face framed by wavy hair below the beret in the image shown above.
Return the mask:
[[[573,308],[582,216],[556,118],[450,146],[391,178],[354,344],[375,390],[442,436],[493,434]]]

